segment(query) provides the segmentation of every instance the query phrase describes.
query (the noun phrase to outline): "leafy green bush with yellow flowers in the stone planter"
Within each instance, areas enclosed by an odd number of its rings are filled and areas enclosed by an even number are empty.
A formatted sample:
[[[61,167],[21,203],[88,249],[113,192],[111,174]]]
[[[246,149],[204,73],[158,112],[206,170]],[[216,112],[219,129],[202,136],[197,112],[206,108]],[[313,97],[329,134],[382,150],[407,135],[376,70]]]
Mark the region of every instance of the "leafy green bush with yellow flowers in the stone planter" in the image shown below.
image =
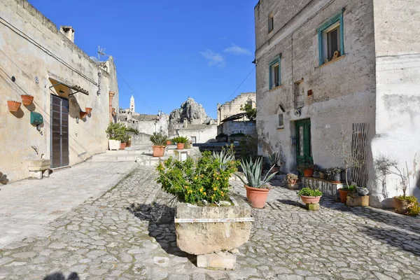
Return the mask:
[[[191,204],[201,205],[204,200],[214,204],[229,200],[229,179],[237,171],[237,162],[230,155],[205,151],[196,162],[192,158],[180,162],[171,157],[156,169],[156,181],[166,193]]]

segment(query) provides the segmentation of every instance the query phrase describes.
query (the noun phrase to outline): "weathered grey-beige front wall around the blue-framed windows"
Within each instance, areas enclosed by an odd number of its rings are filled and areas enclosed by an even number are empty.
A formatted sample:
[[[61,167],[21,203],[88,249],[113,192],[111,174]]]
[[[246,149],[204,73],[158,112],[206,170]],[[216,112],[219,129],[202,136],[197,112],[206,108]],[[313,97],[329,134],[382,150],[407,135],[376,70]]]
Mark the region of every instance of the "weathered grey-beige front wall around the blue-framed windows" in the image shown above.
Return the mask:
[[[318,66],[320,26],[342,8],[345,54]],[[267,35],[267,19],[274,12],[274,31]],[[374,135],[375,71],[374,28],[371,1],[263,0],[255,6],[255,57],[257,61],[258,153],[282,151],[283,172],[295,169],[295,121],[311,119],[314,162],[322,167],[341,166],[325,151],[328,139],[338,137],[342,127],[370,124]],[[276,18],[278,20],[276,20]],[[262,33],[262,34],[261,34]],[[281,54],[281,85],[269,90],[269,62]],[[307,91],[312,90],[311,97]],[[279,129],[279,105],[285,109]],[[293,109],[302,106],[301,116]]]

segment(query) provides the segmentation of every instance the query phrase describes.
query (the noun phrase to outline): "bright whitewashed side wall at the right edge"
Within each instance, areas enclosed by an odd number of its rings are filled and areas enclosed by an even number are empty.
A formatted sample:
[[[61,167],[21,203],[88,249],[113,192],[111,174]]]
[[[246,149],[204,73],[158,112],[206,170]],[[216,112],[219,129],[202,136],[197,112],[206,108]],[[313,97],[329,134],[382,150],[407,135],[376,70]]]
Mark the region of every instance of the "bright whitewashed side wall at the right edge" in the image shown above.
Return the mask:
[[[373,3],[377,111],[372,153],[374,158],[388,155],[399,160],[400,169],[407,162],[410,193],[420,198],[420,1]],[[395,191],[399,184],[395,176],[388,176],[386,196],[377,182],[377,202],[402,195]]]

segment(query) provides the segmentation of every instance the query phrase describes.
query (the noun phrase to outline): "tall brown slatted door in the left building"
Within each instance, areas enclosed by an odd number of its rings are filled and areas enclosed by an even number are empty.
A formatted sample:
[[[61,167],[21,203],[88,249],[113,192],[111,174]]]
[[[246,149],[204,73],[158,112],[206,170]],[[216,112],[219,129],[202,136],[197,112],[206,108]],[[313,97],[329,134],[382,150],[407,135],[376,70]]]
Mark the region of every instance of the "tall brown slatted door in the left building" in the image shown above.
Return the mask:
[[[69,100],[51,95],[51,167],[69,165]]]

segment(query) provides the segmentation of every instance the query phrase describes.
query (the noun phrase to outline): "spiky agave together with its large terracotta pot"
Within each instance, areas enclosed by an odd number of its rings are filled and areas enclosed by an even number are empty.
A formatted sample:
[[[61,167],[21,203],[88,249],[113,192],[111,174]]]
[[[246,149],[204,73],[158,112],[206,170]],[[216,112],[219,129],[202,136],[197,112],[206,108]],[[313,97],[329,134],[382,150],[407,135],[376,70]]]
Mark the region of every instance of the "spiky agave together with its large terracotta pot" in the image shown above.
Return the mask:
[[[265,202],[267,201],[267,196],[269,192],[269,186],[267,183],[276,175],[276,173],[269,174],[269,172],[265,175],[264,179],[261,180],[261,169],[262,169],[262,160],[258,158],[253,162],[252,159],[249,160],[241,160],[241,168],[244,172],[245,179],[242,179],[239,174],[236,174],[239,179],[244,183],[244,187],[246,188],[246,198],[248,202],[251,202],[254,208],[263,208]]]

